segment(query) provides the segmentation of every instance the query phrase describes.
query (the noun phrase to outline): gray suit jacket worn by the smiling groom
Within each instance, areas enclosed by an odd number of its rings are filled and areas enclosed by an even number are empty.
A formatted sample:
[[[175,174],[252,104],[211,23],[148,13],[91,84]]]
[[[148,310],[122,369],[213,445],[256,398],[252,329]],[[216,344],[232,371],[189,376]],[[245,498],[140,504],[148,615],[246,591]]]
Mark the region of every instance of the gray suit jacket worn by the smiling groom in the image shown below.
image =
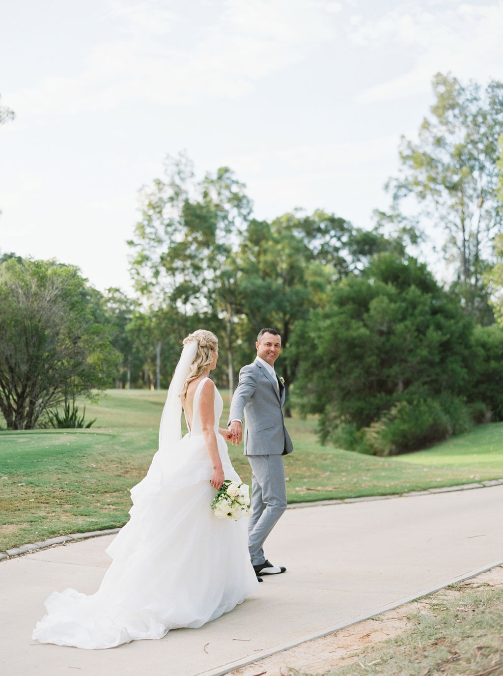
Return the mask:
[[[229,420],[246,420],[245,456],[284,455],[293,451],[285,428],[285,387],[258,360],[243,366],[231,402]]]

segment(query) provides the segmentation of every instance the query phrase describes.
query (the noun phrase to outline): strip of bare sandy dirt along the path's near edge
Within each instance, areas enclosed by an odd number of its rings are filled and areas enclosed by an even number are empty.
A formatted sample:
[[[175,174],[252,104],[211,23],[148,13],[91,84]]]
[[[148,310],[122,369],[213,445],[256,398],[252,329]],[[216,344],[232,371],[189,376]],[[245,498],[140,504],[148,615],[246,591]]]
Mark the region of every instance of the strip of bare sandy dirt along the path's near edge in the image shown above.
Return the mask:
[[[355,654],[370,644],[397,636],[410,626],[409,617],[418,612],[429,612],[431,600],[455,596],[477,587],[503,587],[503,566],[481,573],[477,577],[457,585],[456,589],[442,589],[424,600],[387,610],[373,619],[358,622],[333,634],[300,646],[283,650],[275,655],[258,660],[252,665],[240,667],[227,676],[297,676],[297,673],[323,674],[335,667],[349,665],[357,660]]]

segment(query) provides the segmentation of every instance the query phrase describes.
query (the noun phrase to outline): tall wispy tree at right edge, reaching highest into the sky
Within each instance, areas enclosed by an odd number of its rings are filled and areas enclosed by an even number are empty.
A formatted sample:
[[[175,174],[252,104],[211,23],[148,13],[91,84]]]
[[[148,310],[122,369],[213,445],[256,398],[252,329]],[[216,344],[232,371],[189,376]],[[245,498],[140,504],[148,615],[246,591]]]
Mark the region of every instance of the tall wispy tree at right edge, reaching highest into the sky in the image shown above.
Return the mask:
[[[444,254],[456,270],[466,311],[490,322],[483,272],[502,225],[498,139],[503,134],[503,83],[485,91],[450,74],[433,78],[435,103],[418,141],[402,137],[400,174],[387,187],[395,208],[413,195],[420,215],[444,233]],[[489,314],[489,316],[488,316]]]

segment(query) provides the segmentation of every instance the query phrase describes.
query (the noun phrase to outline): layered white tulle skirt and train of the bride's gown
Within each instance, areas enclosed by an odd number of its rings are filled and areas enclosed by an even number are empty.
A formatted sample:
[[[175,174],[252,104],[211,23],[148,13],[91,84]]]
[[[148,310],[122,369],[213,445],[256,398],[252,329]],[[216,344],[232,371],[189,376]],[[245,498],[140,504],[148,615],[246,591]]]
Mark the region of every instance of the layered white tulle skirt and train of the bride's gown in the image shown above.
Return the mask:
[[[178,470],[168,471],[165,459],[154,456],[147,477],[131,491],[130,521],[107,549],[113,560],[99,590],[51,594],[34,639],[78,648],[158,639],[177,627],[201,627],[256,591],[247,518],[216,518],[201,442],[189,435],[178,442],[186,452]],[[222,443],[226,478],[236,479]]]

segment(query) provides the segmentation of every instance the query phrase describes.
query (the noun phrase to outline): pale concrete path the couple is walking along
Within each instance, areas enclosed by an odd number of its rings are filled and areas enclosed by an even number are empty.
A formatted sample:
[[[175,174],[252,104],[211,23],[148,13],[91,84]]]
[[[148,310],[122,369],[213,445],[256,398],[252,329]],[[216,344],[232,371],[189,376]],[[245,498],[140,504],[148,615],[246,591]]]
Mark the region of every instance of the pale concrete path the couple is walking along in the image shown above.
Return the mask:
[[[503,486],[289,509],[266,553],[287,566],[200,629],[112,650],[31,639],[54,589],[93,593],[113,535],[0,562],[0,673],[216,676],[503,562]]]

